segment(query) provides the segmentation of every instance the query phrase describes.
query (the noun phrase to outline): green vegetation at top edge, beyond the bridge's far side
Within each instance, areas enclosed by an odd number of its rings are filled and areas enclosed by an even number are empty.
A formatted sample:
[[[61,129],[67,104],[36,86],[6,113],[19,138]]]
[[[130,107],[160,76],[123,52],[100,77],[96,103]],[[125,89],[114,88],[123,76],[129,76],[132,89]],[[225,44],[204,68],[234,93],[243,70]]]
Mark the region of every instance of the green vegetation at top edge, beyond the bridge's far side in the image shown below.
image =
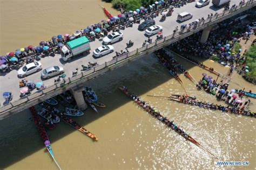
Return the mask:
[[[113,5],[113,8],[119,9],[122,8],[126,11],[134,11],[136,9],[139,9],[140,6],[149,6],[153,4],[154,0],[105,0],[106,2],[111,2]]]

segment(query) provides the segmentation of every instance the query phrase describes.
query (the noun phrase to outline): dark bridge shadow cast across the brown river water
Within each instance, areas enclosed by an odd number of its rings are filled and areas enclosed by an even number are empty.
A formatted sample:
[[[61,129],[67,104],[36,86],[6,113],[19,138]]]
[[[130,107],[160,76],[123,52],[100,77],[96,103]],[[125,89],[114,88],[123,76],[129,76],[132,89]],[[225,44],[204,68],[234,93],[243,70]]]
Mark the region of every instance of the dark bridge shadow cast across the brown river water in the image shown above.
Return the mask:
[[[201,59],[201,61],[204,60],[205,59]],[[178,61],[184,60],[179,59]],[[184,64],[186,69],[194,67],[192,63],[187,61],[180,63],[181,65]],[[92,86],[96,91],[99,101],[103,102],[107,107],[98,109],[98,114],[91,108],[87,108],[84,111],[84,116],[72,117],[72,119],[86,128],[87,124],[96,121],[100,117],[130,102],[118,87],[124,85],[128,87],[132,93],[140,96],[171,79],[173,79],[173,77],[167,72],[163,65],[160,64],[155,56],[152,54],[146,55],[110,73],[86,82],[85,86]],[[104,127],[102,128],[104,131]],[[28,109],[1,120],[0,130],[0,169],[9,167],[44,148],[43,141],[39,137],[39,133],[31,119],[31,114]],[[95,132],[93,129],[88,130]],[[48,135],[51,143],[54,143],[74,131],[76,130],[69,125],[60,122],[57,124],[55,130],[48,130]],[[97,132],[95,134],[97,136]],[[100,136],[97,137],[100,140]],[[88,138],[87,140],[91,139]],[[65,148],[65,146],[63,146],[63,148]],[[40,162],[40,160],[38,160],[38,162]]]

